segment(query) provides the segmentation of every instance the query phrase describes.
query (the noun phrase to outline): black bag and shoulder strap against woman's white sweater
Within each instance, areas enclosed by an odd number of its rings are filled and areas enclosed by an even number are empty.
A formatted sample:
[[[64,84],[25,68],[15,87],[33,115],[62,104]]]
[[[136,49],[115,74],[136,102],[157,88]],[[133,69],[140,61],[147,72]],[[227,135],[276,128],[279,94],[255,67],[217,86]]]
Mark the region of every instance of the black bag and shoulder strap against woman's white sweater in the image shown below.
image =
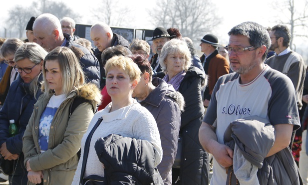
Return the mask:
[[[94,131],[96,130],[96,128],[98,127],[98,125],[101,123],[102,120],[103,120],[102,117],[100,117],[97,120],[97,122],[95,123],[92,130],[90,131],[90,133],[89,133],[89,135],[88,135],[88,137],[85,141],[85,144],[84,144],[81,174],[80,174],[80,180],[79,180],[80,181],[79,184],[81,184],[81,185],[105,185],[105,184],[107,184],[105,177],[102,177],[102,176],[99,176],[99,175],[89,175],[89,176],[83,177],[84,171],[85,171],[85,166],[86,166],[87,159],[88,159],[91,138],[92,138]]]

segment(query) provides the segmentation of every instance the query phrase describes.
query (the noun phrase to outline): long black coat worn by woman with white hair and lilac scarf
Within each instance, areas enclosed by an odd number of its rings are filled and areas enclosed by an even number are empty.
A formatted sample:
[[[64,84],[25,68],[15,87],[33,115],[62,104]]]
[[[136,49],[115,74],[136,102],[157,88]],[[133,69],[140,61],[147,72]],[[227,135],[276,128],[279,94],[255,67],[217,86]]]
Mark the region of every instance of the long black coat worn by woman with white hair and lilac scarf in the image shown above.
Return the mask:
[[[204,72],[192,66],[187,70],[178,90],[185,100],[180,129],[182,134],[180,184],[209,184],[208,153],[202,148],[198,134],[204,113],[201,88],[205,83]]]

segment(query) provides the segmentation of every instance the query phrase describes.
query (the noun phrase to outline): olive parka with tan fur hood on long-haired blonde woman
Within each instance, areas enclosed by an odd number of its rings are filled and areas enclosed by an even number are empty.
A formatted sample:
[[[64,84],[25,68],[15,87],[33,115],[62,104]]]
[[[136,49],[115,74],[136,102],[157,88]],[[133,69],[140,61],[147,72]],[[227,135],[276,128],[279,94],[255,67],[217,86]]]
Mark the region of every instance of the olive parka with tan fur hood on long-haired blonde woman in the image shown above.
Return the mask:
[[[34,104],[33,113],[23,135],[22,151],[25,162],[30,159],[33,171],[43,171],[43,184],[71,184],[79,157],[80,142],[86,132],[100,102],[101,95],[95,84],[88,83],[72,90],[58,107],[49,131],[48,149],[41,153],[38,143],[39,119],[50,97],[41,95]],[[74,99],[82,97],[85,102],[79,104],[70,114]],[[32,184],[28,182],[28,184]]]

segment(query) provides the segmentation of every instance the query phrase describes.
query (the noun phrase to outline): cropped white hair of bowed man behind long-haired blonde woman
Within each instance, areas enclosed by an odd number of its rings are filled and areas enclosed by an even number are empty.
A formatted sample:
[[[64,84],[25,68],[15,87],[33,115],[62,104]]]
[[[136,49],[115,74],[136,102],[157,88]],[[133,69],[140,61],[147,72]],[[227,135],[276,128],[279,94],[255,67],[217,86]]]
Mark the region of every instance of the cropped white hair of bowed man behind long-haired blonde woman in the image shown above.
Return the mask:
[[[49,35],[52,34],[53,30],[57,29],[59,31],[59,34],[62,33],[61,23],[59,19],[50,13],[43,13],[39,15],[34,23],[33,23],[33,29],[37,26],[41,25],[41,28],[44,29]]]

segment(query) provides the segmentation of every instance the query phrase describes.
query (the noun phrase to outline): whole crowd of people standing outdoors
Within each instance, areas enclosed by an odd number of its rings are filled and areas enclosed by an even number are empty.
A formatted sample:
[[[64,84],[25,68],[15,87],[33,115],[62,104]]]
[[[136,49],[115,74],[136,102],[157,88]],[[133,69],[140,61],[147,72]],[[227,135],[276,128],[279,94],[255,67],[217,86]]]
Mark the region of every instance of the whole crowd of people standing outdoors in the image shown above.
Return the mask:
[[[307,70],[286,25],[243,22],[227,45],[175,27],[129,43],[96,22],[92,48],[74,32],[44,13],[26,40],[0,38],[9,184],[308,185]]]

